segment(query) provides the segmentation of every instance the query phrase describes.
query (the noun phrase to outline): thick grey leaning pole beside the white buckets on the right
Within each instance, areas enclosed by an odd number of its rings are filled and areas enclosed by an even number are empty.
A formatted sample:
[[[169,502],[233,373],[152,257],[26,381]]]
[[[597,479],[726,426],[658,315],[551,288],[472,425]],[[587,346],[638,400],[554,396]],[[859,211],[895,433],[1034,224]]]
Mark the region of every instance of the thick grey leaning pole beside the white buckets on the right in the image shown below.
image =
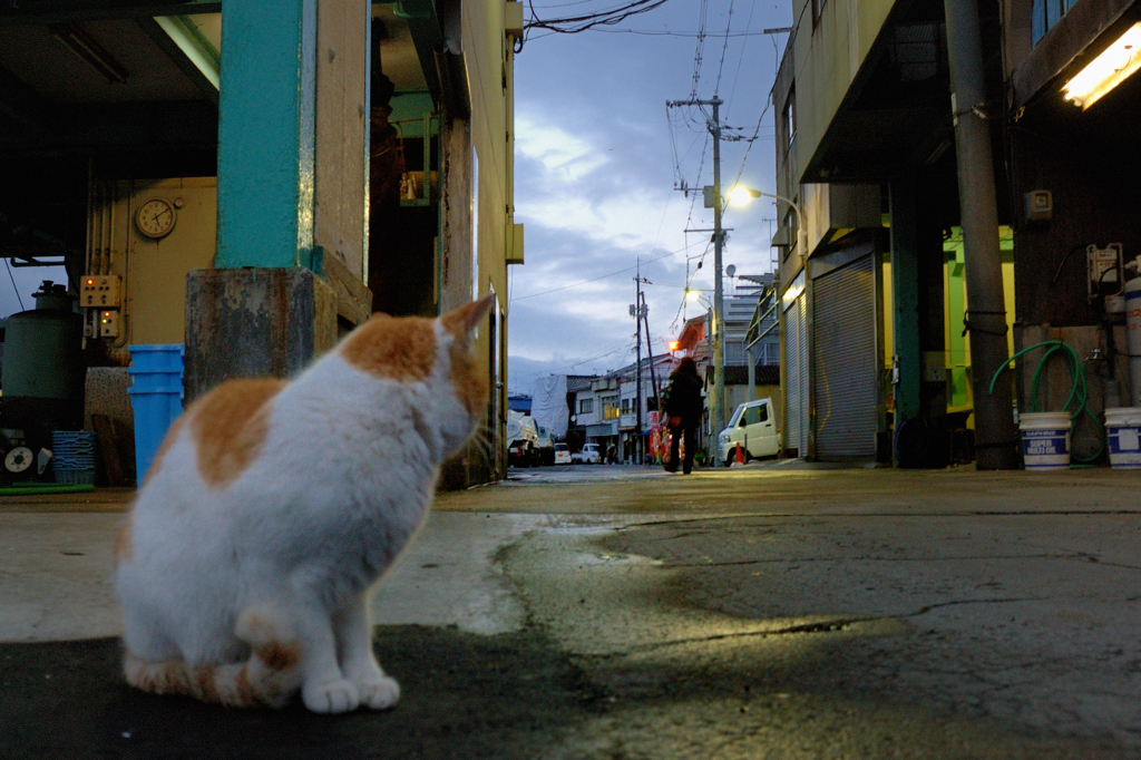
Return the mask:
[[[946,3],[946,15],[958,208],[970,302],[966,328],[971,331],[976,467],[1010,470],[1019,466],[1010,382],[1004,379],[996,383],[994,395],[989,390],[990,378],[1006,364],[1010,354],[979,9],[976,0],[956,0]]]

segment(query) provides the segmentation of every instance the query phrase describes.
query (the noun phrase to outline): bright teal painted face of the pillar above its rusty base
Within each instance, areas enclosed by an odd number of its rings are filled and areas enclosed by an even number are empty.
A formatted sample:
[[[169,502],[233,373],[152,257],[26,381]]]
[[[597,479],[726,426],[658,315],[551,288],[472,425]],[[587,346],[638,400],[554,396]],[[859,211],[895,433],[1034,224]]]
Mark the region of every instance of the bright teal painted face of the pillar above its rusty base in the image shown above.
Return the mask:
[[[217,268],[308,267],[316,0],[222,3]]]

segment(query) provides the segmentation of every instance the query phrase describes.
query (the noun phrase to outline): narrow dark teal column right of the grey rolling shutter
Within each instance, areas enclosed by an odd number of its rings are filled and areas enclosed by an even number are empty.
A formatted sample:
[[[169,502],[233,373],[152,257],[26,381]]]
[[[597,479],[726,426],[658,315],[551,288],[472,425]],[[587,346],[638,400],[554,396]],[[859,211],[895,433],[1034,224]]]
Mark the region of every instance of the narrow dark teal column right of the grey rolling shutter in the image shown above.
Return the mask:
[[[891,184],[891,302],[896,383],[896,427],[920,417],[922,354],[920,350],[920,229],[914,183]]]

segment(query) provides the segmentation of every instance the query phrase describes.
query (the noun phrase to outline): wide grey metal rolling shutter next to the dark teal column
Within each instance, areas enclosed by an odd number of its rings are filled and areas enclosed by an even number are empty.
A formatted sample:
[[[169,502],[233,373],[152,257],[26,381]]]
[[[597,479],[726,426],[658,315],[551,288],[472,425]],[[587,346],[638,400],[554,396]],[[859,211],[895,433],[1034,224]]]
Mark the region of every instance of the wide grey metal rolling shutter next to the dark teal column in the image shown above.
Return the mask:
[[[875,459],[874,260],[865,256],[814,281],[812,381],[820,460]]]

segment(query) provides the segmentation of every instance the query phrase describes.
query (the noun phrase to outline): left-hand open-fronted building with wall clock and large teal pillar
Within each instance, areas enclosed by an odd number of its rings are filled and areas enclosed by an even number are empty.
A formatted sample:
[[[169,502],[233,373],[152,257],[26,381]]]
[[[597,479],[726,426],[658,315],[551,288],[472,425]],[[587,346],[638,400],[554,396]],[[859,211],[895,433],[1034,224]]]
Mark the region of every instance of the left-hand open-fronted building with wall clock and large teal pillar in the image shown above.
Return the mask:
[[[60,8],[0,8],[0,256],[112,294],[83,304],[84,363],[185,343],[193,398],[289,375],[373,310],[494,293],[478,350],[497,445],[444,482],[501,476],[521,5]]]

